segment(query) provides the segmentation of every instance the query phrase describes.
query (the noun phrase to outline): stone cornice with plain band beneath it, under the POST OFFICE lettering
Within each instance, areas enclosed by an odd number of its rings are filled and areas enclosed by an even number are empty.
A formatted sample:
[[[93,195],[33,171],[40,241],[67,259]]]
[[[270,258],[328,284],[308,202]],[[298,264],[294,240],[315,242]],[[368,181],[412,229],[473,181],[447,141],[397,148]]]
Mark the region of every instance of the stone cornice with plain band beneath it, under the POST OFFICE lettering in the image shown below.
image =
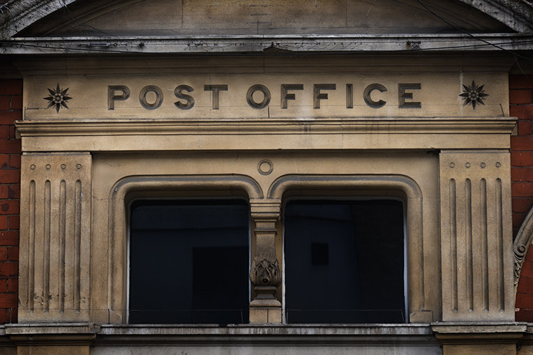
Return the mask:
[[[516,120],[490,118],[17,121],[22,151],[509,149]],[[371,138],[370,138],[371,137]],[[259,144],[259,145],[258,145]],[[68,149],[67,149],[68,148]]]

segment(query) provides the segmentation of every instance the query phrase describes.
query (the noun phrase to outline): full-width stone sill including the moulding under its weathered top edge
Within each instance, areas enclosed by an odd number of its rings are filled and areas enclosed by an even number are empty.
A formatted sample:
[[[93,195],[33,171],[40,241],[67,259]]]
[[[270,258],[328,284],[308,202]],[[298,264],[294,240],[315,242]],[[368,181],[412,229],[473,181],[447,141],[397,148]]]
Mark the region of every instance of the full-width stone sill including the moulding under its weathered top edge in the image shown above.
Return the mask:
[[[533,333],[520,322],[433,324],[6,324],[0,346],[17,344],[136,345],[437,345],[516,342]],[[530,341],[530,340],[529,340]]]

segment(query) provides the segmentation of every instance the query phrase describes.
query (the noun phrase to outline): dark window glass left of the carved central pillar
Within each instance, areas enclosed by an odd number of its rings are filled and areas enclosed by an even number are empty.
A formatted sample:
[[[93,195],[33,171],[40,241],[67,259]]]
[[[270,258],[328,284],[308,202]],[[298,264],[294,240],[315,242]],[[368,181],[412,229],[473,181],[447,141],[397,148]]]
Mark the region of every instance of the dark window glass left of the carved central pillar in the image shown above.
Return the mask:
[[[129,322],[248,323],[248,210],[237,199],[134,202]]]

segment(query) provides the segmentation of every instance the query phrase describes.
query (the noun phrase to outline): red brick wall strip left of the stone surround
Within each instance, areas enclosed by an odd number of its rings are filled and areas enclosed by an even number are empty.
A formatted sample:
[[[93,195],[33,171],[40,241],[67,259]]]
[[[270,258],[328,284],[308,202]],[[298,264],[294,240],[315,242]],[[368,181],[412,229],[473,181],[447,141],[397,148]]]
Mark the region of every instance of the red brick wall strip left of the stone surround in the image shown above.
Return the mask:
[[[17,322],[22,80],[0,80],[0,324]]]

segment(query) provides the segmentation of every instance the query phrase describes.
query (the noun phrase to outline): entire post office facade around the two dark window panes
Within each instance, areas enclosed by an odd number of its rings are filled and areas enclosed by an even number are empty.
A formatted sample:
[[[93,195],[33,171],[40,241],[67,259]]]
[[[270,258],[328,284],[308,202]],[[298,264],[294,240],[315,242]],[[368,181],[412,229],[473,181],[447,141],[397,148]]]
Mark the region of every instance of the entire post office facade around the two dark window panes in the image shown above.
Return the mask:
[[[465,50],[531,57],[530,3],[179,3],[1,5],[1,350],[530,352],[533,68]],[[287,324],[287,202],[376,197],[405,322]],[[131,204],[222,198],[250,208],[247,322],[130,324]]]

